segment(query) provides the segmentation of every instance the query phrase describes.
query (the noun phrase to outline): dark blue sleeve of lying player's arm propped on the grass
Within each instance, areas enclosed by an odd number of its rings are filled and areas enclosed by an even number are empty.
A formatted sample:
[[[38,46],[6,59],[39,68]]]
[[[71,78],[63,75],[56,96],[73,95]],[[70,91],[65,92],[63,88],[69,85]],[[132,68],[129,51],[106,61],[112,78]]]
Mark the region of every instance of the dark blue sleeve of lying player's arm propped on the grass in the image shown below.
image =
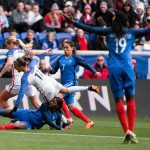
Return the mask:
[[[43,103],[42,106],[40,107],[40,111],[42,113],[42,117],[44,119],[44,121],[52,128],[57,129],[57,130],[61,130],[61,127],[54,124],[53,121],[51,121],[51,114],[48,111],[48,106],[47,103]]]

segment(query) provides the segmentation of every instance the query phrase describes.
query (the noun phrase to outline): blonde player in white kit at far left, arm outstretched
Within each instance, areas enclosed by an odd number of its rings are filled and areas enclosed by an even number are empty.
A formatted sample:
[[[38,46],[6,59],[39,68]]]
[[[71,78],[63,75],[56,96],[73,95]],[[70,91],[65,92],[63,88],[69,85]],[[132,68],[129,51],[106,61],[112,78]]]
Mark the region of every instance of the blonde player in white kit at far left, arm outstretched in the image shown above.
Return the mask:
[[[6,88],[1,91],[0,93],[0,103],[4,104],[3,106],[5,108],[8,108],[9,106],[6,102],[9,98],[15,96],[18,94],[19,89],[20,89],[20,84],[21,84],[21,77],[23,73],[19,73],[15,68],[14,68],[14,61],[23,55],[25,53],[30,53],[32,55],[37,55],[37,54],[44,54],[44,53],[51,53],[51,50],[45,50],[43,52],[30,52],[28,49],[31,49],[31,44],[24,44],[21,40],[16,39],[14,36],[9,36],[6,41],[5,45],[8,48],[7,52],[7,61],[0,72],[0,78],[3,76],[3,74],[9,69],[12,68],[12,82],[9,85],[6,85]],[[23,47],[23,49],[20,48]],[[28,86],[28,89],[26,91],[26,95],[29,100],[31,100],[32,104],[34,105],[35,108],[39,108],[41,105],[41,102],[39,98],[36,96],[37,91],[35,87],[32,85]]]

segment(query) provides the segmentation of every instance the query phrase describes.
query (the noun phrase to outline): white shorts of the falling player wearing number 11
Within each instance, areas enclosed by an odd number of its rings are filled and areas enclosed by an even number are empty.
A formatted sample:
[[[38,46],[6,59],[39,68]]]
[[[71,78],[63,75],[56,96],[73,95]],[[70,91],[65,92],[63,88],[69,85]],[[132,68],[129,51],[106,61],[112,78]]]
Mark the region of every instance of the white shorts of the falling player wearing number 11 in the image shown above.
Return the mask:
[[[57,82],[55,79],[52,77],[49,79],[47,88],[47,94],[43,96],[44,100],[46,101],[51,101],[58,93],[59,91],[63,88],[63,85]]]

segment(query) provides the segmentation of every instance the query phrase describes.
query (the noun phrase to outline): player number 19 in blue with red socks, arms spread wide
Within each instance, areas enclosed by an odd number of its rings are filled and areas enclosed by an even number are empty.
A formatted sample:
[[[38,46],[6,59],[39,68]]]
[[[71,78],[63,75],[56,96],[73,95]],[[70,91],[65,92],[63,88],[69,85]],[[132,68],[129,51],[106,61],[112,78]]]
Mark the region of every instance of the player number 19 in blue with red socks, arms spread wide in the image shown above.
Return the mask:
[[[112,20],[112,27],[110,28],[90,27],[74,21],[71,15],[64,14],[64,17],[76,27],[107,37],[109,49],[109,80],[116,102],[116,111],[125,132],[124,143],[138,143],[136,135],[134,134],[136,119],[136,105],[134,99],[135,74],[131,62],[130,50],[136,37],[150,34],[150,28],[129,29],[128,18],[125,14],[121,12],[115,13],[115,18]],[[124,95],[126,97],[127,111],[123,103]]]

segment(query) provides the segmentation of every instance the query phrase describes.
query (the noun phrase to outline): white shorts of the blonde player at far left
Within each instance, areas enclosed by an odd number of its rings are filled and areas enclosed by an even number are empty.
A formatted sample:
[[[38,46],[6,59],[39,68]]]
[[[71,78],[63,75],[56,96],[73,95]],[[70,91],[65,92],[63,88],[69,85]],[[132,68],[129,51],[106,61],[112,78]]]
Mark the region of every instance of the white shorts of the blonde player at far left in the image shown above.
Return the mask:
[[[19,90],[20,90],[20,85],[9,84],[9,85],[6,85],[5,89],[7,92],[13,95],[18,95]],[[35,96],[37,95],[37,89],[33,85],[29,85],[25,94],[28,97]]]

